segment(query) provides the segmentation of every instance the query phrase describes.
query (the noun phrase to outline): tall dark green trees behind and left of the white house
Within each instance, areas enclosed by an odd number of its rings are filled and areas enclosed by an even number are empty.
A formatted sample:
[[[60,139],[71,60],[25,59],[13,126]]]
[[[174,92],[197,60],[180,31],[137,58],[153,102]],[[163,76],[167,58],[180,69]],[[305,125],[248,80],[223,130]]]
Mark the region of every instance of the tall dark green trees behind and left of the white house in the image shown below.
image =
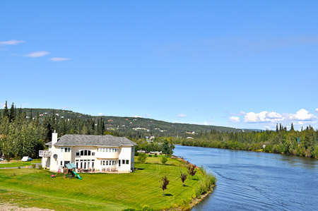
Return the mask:
[[[33,117],[34,116],[34,117]],[[45,143],[57,131],[59,137],[65,134],[105,134],[105,123],[102,119],[61,119],[54,115],[39,120],[40,114],[26,114],[23,109],[16,109],[12,103],[8,109],[7,102],[0,113],[0,157],[9,160],[23,156],[38,157],[38,151],[45,149]]]

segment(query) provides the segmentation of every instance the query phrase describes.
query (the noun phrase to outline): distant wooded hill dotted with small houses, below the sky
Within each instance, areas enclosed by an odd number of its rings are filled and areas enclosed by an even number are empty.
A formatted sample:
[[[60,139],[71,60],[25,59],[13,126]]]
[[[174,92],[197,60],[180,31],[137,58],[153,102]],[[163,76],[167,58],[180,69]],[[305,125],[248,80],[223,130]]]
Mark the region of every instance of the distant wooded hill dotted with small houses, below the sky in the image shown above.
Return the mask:
[[[140,132],[142,135],[155,135],[155,136],[179,136],[187,137],[192,136],[192,132],[199,133],[204,131],[211,131],[212,129],[216,131],[223,132],[238,132],[242,131],[237,128],[228,128],[223,126],[205,126],[198,124],[189,123],[170,123],[167,121],[158,121],[155,119],[146,119],[140,117],[131,116],[91,116],[88,114],[81,114],[78,112],[63,110],[63,109],[22,109],[25,111],[27,118],[35,119],[37,114],[39,115],[39,120],[45,119],[45,116],[54,114],[57,119],[76,119],[80,118],[86,119],[98,119],[102,118],[105,121],[105,128],[108,131],[122,131],[122,132]],[[3,112],[3,109],[0,109]]]

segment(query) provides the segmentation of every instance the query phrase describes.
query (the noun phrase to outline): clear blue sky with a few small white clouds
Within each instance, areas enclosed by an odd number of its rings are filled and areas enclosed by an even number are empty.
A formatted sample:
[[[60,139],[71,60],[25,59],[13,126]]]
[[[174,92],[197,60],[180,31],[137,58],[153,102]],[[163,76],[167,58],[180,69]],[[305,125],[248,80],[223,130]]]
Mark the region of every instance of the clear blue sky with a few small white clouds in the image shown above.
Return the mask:
[[[1,1],[1,106],[318,128],[318,1]]]

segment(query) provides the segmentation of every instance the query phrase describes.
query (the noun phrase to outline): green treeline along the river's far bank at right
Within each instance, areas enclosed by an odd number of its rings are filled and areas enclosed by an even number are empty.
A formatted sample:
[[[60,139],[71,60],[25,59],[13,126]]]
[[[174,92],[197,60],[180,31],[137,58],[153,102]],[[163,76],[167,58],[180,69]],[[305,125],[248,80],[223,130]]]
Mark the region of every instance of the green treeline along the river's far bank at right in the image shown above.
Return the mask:
[[[174,143],[198,147],[216,147],[232,150],[254,150],[305,157],[318,157],[318,130],[312,126],[295,131],[293,124],[290,131],[281,124],[276,131],[252,131],[223,133],[206,131],[194,139],[175,138]]]

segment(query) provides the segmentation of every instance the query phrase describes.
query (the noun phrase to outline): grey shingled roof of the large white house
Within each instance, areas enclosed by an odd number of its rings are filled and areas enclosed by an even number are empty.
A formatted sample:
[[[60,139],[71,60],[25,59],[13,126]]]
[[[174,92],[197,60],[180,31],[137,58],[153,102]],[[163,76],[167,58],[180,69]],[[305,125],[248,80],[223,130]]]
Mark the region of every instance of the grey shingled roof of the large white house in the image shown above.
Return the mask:
[[[52,145],[52,142],[45,145]],[[119,147],[121,145],[136,145],[125,137],[114,137],[112,135],[63,135],[57,139],[54,146],[109,146]]]

